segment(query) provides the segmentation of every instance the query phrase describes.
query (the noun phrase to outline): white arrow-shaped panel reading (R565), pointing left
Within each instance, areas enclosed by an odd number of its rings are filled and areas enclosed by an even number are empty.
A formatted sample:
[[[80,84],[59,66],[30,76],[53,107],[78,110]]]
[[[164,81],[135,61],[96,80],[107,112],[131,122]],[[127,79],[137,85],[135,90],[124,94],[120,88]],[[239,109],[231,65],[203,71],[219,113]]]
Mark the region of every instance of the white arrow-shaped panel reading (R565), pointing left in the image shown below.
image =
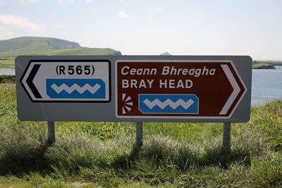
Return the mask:
[[[34,102],[109,102],[109,61],[30,61],[20,83]]]

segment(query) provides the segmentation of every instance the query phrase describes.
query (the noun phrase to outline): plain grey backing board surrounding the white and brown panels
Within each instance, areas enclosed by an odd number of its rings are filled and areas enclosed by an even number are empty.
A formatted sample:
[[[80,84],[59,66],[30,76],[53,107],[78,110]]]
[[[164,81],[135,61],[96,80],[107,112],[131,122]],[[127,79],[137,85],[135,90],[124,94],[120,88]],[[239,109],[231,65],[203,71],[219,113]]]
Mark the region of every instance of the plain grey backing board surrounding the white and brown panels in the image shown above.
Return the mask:
[[[25,88],[20,84],[30,61],[99,61],[110,62],[110,96],[107,103],[99,102],[32,102]],[[230,118],[118,118],[116,117],[116,61],[232,61],[242,78],[247,92]],[[110,121],[110,122],[211,122],[245,123],[250,120],[252,88],[252,58],[250,56],[18,56],[16,58],[16,92],[18,118],[20,120],[42,121]]]

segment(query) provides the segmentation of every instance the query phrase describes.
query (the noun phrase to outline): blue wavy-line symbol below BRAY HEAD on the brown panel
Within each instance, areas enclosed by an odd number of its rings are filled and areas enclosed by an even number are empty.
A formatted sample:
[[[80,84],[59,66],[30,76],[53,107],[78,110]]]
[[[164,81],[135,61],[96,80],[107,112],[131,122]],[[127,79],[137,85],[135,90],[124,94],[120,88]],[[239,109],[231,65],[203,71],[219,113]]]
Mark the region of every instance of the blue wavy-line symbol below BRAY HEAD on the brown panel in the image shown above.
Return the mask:
[[[199,113],[195,94],[139,94],[142,113]]]

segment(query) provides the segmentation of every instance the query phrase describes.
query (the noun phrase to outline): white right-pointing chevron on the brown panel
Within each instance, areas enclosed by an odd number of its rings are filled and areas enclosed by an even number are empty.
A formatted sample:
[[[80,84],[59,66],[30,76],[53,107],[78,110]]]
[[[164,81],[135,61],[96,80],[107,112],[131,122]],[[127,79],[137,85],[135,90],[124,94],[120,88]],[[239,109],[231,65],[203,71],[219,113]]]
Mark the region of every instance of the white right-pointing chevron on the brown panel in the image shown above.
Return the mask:
[[[233,92],[231,96],[229,96],[229,99],[226,101],[226,104],[224,104],[221,112],[219,113],[220,115],[225,115],[228,112],[231,105],[233,104],[233,102],[235,101],[241,89],[238,83],[236,82],[235,77],[231,73],[231,70],[228,68],[228,65],[221,65],[221,68],[223,69],[224,73],[226,74],[229,82],[233,87]]]

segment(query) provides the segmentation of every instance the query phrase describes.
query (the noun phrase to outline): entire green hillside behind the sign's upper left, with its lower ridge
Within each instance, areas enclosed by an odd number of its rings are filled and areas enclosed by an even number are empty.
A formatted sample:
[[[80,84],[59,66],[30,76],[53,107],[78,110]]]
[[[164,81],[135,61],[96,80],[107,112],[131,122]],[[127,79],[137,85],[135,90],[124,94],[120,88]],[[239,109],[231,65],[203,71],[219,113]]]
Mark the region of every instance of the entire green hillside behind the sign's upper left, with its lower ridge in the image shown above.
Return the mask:
[[[15,68],[15,58],[20,55],[121,56],[121,52],[109,48],[82,47],[76,42],[48,37],[19,37],[0,40],[0,68]]]

